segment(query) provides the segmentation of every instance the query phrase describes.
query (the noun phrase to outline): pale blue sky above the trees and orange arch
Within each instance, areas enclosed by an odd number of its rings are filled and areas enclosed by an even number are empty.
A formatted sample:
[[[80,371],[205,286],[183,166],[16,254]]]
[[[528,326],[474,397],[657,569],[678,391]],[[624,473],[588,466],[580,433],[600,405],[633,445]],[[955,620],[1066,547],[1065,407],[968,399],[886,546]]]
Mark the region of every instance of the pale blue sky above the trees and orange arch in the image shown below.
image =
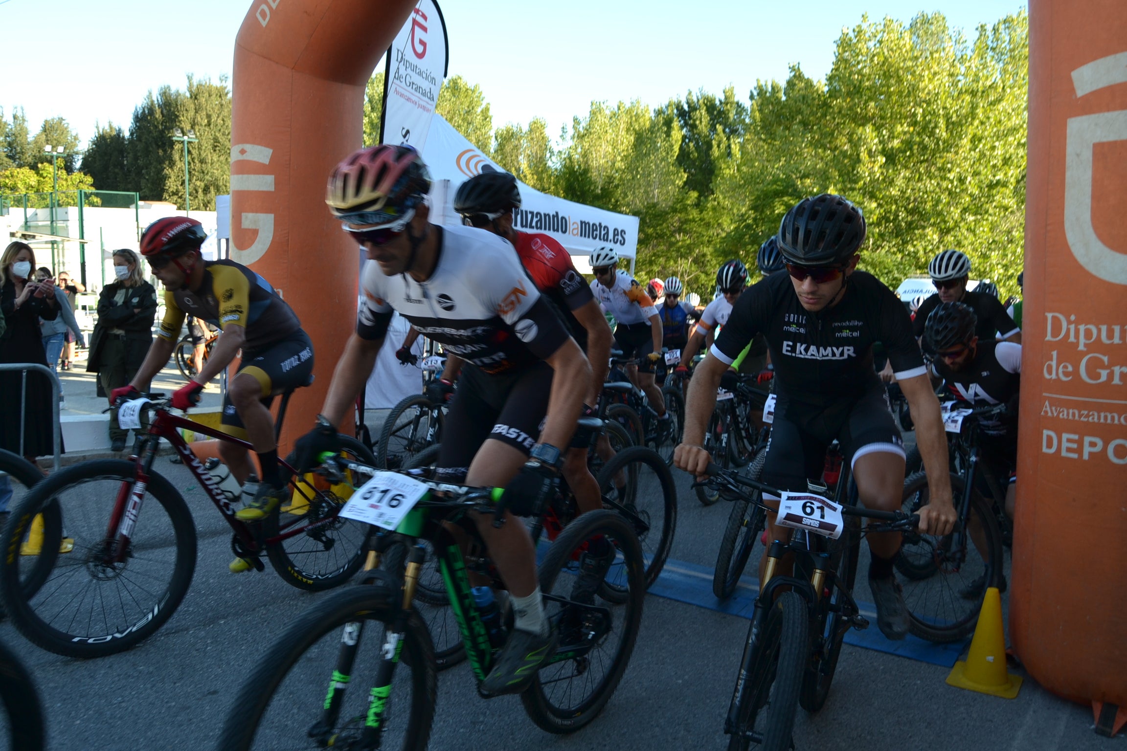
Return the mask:
[[[284,1],[284,0],[283,0]],[[548,120],[556,134],[592,100],[657,105],[686,90],[756,79],[799,63],[822,78],[843,27],[941,11],[974,35],[1021,0],[440,0],[450,72],[481,86],[494,124]],[[230,75],[248,0],[0,0],[0,107],[23,106],[30,127],[61,115],[83,143],[95,123],[128,126],[145,92],[185,78]],[[687,10],[686,10],[687,8]]]

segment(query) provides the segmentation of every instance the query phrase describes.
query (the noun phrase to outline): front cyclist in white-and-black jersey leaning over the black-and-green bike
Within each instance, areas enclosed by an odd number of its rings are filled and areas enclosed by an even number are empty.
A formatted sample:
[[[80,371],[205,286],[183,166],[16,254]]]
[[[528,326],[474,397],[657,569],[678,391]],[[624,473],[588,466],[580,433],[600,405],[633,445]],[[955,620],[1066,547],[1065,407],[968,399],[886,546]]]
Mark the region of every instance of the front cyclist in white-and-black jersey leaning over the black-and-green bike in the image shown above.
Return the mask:
[[[494,516],[473,515],[515,614],[482,690],[518,692],[551,655],[554,634],[543,614],[532,539],[513,515],[538,513],[551,493],[591,367],[505,240],[429,222],[429,187],[426,164],[407,146],[362,149],[329,178],[326,202],[369,260],[356,331],[317,426],[296,442],[298,468],[338,448],[336,426],[372,372],[393,311],[465,359],[438,467],[463,472],[470,485],[505,488],[504,525],[495,528]]]

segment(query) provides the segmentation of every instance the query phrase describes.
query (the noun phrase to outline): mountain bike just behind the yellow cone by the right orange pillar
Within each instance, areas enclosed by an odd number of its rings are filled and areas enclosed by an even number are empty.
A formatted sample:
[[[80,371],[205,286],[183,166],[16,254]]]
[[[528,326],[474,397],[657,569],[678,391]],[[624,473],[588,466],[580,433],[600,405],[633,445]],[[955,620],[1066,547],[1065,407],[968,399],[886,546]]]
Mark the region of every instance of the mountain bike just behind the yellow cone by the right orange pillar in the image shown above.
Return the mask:
[[[986,485],[999,483],[982,462],[983,420],[997,417],[1004,404],[959,409],[944,413],[943,426],[951,455],[951,494],[959,522],[946,537],[908,534],[895,565],[904,587],[904,604],[912,617],[912,633],[929,642],[957,642],[974,633],[987,587],[1000,587],[1003,569],[1005,495],[992,491],[995,503],[978,492],[979,473]],[[904,481],[904,509],[916,511],[930,500],[928,476],[916,472]],[[1006,518],[1006,524],[1009,519]]]

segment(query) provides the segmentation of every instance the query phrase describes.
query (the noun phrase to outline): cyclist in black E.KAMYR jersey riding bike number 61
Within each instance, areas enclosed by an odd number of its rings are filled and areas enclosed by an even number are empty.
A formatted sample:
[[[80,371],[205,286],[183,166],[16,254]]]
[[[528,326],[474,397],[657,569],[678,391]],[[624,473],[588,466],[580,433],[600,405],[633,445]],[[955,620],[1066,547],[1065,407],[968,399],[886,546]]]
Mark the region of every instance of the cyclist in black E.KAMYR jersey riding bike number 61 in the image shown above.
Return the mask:
[[[864,234],[860,209],[840,196],[806,198],[787,213],[778,243],[788,275],[767,277],[736,301],[728,324],[696,368],[685,438],[674,464],[703,474],[712,461],[701,444],[717,386],[728,365],[762,332],[778,394],[763,481],[806,491],[807,480],[820,476],[826,448],[836,439],[851,461],[866,507],[899,509],[904,448],[872,369],[872,343],[882,341],[911,405],[924,464],[935,470],[929,472],[931,503],[920,511],[920,529],[947,535],[956,512],[939,400],[904,305],[875,277],[857,270]],[[769,522],[774,539],[782,537],[784,530],[775,528],[773,516]],[[900,535],[869,535],[868,542],[878,626],[889,638],[904,638],[907,610],[893,574]]]

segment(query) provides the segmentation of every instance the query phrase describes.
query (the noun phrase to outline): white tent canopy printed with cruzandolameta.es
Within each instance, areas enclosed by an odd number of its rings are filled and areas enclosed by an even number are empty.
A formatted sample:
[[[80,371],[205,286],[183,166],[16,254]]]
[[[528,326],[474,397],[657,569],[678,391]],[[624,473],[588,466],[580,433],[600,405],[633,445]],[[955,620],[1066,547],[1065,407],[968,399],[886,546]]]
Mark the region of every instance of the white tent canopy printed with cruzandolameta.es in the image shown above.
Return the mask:
[[[454,126],[435,115],[431,136],[423,150],[423,160],[434,178],[431,190],[432,221],[461,224],[454,214],[454,194],[458,186],[483,169],[504,171],[482,154]],[[513,213],[513,229],[523,232],[543,232],[559,241],[571,256],[589,256],[600,245],[611,245],[619,256],[638,254],[638,217],[585,206],[571,200],[540,193],[523,182],[522,206]],[[576,265],[586,272],[582,263]]]

